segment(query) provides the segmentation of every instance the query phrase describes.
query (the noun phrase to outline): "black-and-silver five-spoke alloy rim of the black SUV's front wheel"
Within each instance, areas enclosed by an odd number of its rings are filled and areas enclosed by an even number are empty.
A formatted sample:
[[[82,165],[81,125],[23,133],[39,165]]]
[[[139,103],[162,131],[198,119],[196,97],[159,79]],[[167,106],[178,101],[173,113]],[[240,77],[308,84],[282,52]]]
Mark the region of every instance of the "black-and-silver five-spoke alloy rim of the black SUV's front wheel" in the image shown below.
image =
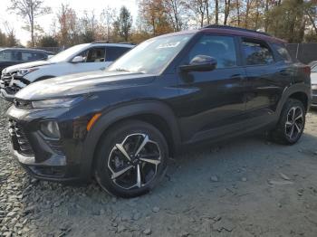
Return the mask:
[[[160,158],[157,142],[150,140],[147,134],[130,134],[110,151],[110,178],[123,189],[141,188],[157,175]]]

